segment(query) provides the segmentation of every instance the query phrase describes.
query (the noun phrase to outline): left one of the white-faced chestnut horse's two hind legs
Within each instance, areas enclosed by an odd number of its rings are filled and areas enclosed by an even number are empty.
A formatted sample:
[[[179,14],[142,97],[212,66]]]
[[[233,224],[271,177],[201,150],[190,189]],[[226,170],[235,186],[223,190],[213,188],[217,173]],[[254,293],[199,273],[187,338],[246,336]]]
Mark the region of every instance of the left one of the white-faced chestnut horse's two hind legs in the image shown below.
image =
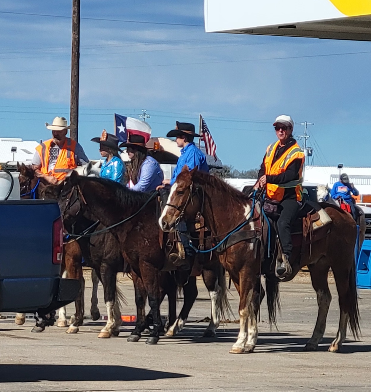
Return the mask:
[[[317,294],[318,316],[312,337],[305,345],[304,351],[317,350],[318,343],[320,343],[323,338],[323,334],[325,333],[327,313],[329,312],[331,303],[331,293],[327,281],[329,266],[323,265],[324,261],[325,260],[323,259],[320,261],[321,265],[313,264],[308,266],[312,286],[313,289],[316,290]]]

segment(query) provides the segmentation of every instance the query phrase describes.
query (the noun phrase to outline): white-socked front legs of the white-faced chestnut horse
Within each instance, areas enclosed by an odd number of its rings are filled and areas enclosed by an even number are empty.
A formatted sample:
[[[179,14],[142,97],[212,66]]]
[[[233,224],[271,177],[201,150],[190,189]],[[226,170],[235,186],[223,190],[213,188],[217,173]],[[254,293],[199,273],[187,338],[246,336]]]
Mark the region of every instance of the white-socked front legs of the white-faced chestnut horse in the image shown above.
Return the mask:
[[[258,339],[257,311],[260,302],[260,280],[258,275],[243,267],[239,273],[239,315],[240,332],[231,354],[253,352]]]

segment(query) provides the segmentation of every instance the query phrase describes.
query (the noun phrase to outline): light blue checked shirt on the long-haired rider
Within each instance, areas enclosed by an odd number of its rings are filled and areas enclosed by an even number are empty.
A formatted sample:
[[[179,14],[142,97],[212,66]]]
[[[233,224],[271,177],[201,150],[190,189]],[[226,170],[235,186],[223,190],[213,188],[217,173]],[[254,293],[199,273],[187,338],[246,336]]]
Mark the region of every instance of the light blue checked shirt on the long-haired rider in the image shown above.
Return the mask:
[[[147,155],[139,169],[138,182],[130,187],[129,183],[126,185],[132,191],[151,192],[162,184],[163,172],[159,163]]]

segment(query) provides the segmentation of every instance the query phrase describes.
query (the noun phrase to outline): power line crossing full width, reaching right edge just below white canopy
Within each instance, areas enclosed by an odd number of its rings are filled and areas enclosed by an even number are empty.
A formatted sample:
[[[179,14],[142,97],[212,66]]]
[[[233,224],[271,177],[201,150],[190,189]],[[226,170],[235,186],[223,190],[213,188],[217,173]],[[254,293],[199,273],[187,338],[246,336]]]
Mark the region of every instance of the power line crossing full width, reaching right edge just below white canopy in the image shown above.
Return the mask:
[[[225,64],[225,63],[244,63],[244,62],[255,62],[255,61],[270,61],[270,60],[291,60],[297,58],[314,58],[314,57],[330,57],[330,56],[347,56],[351,54],[368,54],[371,51],[362,52],[347,52],[347,53],[330,53],[330,54],[312,54],[306,56],[287,56],[287,57],[271,57],[271,58],[253,58],[245,60],[220,60],[220,61],[206,61],[198,63],[177,63],[177,64],[148,64],[148,65],[123,65],[119,67],[92,67],[92,68],[81,68],[84,70],[96,70],[96,69],[128,69],[128,68],[149,68],[149,67],[172,67],[178,65],[204,65],[204,64]],[[25,69],[15,71],[0,71],[0,73],[22,73],[22,72],[57,72],[57,71],[70,71],[69,68],[63,69]]]

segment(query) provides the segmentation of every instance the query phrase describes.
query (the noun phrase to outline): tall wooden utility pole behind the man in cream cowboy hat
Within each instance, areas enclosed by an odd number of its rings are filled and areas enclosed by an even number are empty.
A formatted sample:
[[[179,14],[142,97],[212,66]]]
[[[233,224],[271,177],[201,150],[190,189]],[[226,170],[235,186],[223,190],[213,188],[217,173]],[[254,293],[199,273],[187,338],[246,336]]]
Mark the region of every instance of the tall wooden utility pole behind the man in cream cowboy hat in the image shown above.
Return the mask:
[[[70,136],[79,139],[80,0],[72,0]]]

